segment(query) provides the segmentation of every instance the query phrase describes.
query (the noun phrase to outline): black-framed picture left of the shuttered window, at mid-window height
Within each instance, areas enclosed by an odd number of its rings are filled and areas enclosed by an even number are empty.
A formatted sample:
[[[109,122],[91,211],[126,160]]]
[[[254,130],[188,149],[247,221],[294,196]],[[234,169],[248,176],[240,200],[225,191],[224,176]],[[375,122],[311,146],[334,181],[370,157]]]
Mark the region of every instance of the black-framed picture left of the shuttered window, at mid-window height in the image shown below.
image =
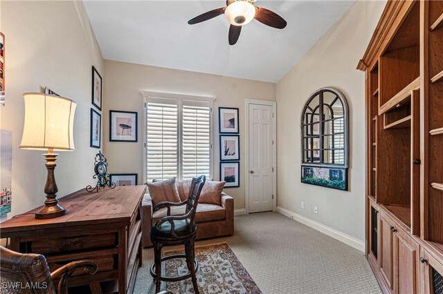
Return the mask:
[[[130,123],[127,122],[125,124],[119,123],[118,120],[118,114],[120,114],[121,118],[125,119],[131,119]],[[116,120],[114,122],[114,119]],[[109,111],[109,141],[110,142],[137,142],[138,141],[138,113],[137,111],[117,111],[117,110],[110,110]],[[117,125],[121,128],[120,135],[117,134],[118,129]],[[135,126],[134,128],[132,128]],[[125,131],[128,131],[129,129],[134,129],[134,132],[131,131],[131,134],[129,135],[129,132],[127,135],[125,135]]]

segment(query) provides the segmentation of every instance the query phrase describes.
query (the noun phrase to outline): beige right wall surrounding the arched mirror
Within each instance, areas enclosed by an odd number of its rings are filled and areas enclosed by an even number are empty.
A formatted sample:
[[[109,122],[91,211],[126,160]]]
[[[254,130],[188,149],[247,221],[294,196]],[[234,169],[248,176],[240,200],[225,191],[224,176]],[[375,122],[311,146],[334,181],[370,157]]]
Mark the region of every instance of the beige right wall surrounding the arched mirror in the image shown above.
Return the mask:
[[[365,235],[365,74],[355,68],[385,3],[357,1],[277,84],[278,206],[359,240]],[[325,86],[342,91],[350,107],[348,192],[300,183],[300,114],[309,95]]]

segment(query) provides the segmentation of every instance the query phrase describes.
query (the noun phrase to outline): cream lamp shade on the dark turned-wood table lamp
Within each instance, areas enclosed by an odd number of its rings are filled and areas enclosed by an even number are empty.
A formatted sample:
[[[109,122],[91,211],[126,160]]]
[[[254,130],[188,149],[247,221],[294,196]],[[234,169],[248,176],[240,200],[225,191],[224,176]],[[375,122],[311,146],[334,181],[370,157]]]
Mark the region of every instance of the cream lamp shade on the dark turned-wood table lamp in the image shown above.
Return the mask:
[[[22,149],[74,150],[74,113],[77,104],[68,98],[24,93],[25,125]]]

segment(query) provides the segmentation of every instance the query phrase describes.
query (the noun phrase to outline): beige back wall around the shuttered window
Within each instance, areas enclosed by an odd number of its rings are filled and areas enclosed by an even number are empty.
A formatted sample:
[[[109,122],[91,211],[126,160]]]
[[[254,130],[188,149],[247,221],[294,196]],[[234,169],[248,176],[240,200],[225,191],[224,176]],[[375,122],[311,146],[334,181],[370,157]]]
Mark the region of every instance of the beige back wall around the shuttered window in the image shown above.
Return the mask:
[[[142,90],[217,98],[213,113],[214,179],[219,180],[218,107],[239,108],[240,187],[226,188],[235,198],[235,209],[245,208],[245,99],[275,101],[275,84],[252,80],[208,75],[169,68],[143,66],[105,60],[105,156],[111,173],[137,173],[138,183],[143,176],[143,95]],[[138,143],[109,142],[109,110],[138,111]]]

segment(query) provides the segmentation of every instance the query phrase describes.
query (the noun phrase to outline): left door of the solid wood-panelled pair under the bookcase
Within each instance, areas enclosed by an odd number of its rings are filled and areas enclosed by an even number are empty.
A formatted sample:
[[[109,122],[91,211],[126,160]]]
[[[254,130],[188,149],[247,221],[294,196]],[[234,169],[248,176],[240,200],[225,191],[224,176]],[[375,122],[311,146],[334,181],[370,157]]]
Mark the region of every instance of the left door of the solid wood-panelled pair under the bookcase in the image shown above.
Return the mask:
[[[394,268],[393,268],[393,232],[394,222],[381,213],[380,215],[380,271],[386,286],[391,292],[394,292]]]

